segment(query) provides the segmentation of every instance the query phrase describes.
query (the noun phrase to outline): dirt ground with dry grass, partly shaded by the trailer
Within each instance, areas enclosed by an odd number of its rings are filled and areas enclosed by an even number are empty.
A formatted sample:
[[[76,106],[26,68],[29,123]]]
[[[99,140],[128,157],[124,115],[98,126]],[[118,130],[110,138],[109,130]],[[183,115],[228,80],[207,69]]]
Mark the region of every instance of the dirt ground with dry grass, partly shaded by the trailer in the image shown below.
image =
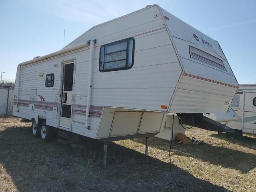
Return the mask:
[[[192,128],[189,137],[201,145],[144,138],[108,144],[108,165],[102,168],[102,143],[44,143],[31,135],[31,123],[0,118],[0,192],[167,192],[256,191],[256,138]]]

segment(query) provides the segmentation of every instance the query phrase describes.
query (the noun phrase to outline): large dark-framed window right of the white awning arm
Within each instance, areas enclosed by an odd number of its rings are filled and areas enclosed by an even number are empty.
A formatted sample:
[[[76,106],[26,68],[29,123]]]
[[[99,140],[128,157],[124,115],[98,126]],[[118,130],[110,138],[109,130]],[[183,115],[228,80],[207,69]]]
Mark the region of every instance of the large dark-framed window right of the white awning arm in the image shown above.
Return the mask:
[[[100,72],[132,68],[134,61],[134,38],[127,38],[102,45],[100,48]]]

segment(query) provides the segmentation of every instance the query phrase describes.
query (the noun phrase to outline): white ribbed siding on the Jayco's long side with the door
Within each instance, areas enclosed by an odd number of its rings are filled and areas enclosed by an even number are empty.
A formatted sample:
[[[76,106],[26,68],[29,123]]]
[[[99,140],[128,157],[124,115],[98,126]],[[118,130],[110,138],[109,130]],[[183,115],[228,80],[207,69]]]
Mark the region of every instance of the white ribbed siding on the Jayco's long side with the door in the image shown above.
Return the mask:
[[[158,16],[154,17],[156,13]],[[128,20],[130,22],[127,22]],[[182,69],[159,9],[154,6],[136,12],[135,16],[130,14],[112,22],[92,28],[75,41],[76,44],[88,39],[97,39],[92,66],[90,105],[163,111],[161,105],[168,106],[170,104]],[[112,29],[114,26],[115,29]],[[132,68],[100,72],[100,46],[129,37],[135,39],[134,65]],[[45,102],[56,104],[59,112],[61,66],[62,62],[68,60],[75,60],[74,97],[85,97],[88,88],[89,53],[90,48],[86,47],[54,58],[47,58],[47,60],[28,66],[22,66],[20,101],[33,102],[30,99],[31,89],[36,89],[37,94],[44,97]],[[42,72],[44,76],[39,77]],[[45,76],[48,73],[54,73],[53,88],[45,87]],[[40,101],[41,98],[38,96],[36,100]],[[27,119],[44,115],[46,116],[46,123],[56,127],[58,126],[58,119],[53,117],[52,114],[51,109],[35,108],[34,111],[31,111],[28,106],[22,105],[20,105],[20,112],[14,113],[16,116]],[[100,116],[90,116],[90,130],[85,128],[84,123],[72,122],[71,131],[96,138],[99,122]]]

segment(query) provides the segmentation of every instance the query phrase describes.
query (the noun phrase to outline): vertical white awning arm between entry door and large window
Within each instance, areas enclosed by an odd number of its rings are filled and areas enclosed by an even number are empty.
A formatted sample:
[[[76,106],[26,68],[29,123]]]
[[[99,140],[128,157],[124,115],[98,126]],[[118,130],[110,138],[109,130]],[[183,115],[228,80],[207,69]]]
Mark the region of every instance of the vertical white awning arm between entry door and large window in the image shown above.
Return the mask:
[[[92,90],[92,64],[94,59],[94,43],[96,43],[96,39],[87,41],[87,44],[90,44],[90,60],[89,60],[89,74],[88,74],[88,87],[87,87],[86,120],[85,120],[85,127],[88,130],[90,130],[90,126],[88,126],[88,120],[89,120],[91,90]]]

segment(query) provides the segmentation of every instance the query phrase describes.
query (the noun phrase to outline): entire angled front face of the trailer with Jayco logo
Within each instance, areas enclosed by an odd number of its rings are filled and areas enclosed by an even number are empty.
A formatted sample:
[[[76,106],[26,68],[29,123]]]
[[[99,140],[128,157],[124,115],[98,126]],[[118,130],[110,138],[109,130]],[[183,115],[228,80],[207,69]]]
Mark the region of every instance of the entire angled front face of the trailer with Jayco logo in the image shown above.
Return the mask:
[[[218,42],[161,10],[184,68],[170,112],[226,112],[238,83]]]

